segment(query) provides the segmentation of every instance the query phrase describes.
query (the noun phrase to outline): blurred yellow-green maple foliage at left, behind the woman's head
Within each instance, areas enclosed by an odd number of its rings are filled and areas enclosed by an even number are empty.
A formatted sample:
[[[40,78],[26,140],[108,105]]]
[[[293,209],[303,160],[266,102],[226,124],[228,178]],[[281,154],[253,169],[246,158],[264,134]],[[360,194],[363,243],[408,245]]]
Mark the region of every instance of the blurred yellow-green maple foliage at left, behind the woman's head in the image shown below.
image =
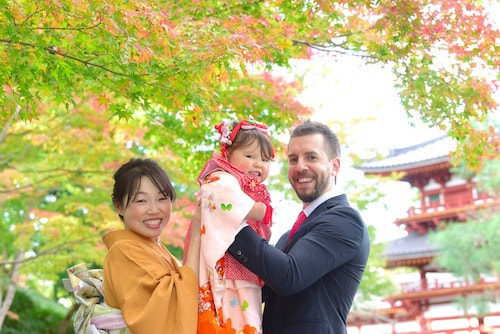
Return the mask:
[[[106,118],[79,107],[13,122],[0,141],[0,324],[18,282],[54,281],[76,257],[95,261],[103,254],[96,233],[116,220],[106,205],[112,166],[103,162],[126,152],[117,149]]]

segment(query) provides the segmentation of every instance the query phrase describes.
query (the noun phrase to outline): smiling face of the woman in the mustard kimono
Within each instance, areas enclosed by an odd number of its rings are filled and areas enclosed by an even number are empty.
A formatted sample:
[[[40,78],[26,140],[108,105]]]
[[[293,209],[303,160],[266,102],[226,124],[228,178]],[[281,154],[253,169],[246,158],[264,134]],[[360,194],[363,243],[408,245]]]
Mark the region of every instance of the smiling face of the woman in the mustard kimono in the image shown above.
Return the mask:
[[[147,176],[133,194],[130,203],[122,203],[116,211],[123,216],[125,229],[158,242],[159,236],[170,219],[172,202],[163,195]]]

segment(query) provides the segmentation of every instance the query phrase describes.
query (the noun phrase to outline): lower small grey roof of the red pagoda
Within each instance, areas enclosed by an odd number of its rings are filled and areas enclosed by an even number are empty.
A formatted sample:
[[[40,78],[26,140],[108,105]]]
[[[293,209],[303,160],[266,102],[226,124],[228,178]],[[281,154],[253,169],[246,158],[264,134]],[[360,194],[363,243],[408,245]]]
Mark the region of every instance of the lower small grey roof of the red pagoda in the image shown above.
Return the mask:
[[[390,241],[383,255],[388,267],[394,267],[415,265],[421,260],[433,258],[437,253],[437,247],[430,243],[427,234],[410,233],[404,238]]]

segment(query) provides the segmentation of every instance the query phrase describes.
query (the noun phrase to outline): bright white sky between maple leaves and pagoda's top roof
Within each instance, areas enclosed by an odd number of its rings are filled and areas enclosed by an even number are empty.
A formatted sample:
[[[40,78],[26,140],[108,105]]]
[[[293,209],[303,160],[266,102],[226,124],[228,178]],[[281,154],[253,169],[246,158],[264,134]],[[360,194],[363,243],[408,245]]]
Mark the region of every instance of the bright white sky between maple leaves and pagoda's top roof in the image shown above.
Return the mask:
[[[407,146],[440,134],[418,119],[412,119],[416,127],[410,126],[389,69],[364,65],[352,57],[337,62],[320,58],[309,66],[304,80],[307,88],[299,99],[315,110],[313,118],[345,122],[363,117],[373,119],[350,131],[349,145],[356,146],[352,149]]]

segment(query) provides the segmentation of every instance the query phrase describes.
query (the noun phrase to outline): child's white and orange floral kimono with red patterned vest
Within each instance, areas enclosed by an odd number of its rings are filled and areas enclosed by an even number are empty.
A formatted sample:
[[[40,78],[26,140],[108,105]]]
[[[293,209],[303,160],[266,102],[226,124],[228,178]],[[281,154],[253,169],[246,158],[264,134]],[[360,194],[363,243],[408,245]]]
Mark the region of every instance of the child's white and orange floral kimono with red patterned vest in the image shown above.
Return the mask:
[[[256,201],[268,206],[266,217],[246,223],[269,240],[269,192],[217,155],[207,162],[198,181],[202,210],[198,333],[262,333],[263,282],[226,250]]]

